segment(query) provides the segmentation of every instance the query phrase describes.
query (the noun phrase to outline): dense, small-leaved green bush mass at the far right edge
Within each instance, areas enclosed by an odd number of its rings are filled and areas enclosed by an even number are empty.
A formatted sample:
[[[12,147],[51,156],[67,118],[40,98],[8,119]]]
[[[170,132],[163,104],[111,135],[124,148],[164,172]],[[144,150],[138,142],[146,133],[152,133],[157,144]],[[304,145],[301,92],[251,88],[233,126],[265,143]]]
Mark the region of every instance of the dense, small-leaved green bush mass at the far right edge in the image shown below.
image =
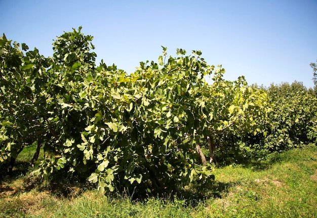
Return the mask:
[[[301,82],[271,84],[266,89],[270,112],[265,121],[266,135],[248,136],[246,142],[264,156],[274,151],[317,143],[317,97]]]

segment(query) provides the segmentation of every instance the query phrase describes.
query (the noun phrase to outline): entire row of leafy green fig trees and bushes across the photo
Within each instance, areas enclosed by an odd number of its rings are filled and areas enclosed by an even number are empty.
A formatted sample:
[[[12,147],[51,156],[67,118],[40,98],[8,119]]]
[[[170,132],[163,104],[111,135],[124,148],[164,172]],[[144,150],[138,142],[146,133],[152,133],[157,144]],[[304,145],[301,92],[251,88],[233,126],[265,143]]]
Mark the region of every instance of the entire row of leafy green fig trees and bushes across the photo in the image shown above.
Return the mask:
[[[101,191],[161,192],[212,180],[216,158],[316,143],[316,95],[299,82],[264,89],[243,76],[227,81],[200,51],[178,49],[174,58],[165,47],[158,63],[127,74],[97,66],[92,39],[81,27],[65,32],[45,58],[0,38],[0,167],[12,170],[35,143],[34,172],[43,177],[65,170]],[[36,161],[40,148],[45,158]]]

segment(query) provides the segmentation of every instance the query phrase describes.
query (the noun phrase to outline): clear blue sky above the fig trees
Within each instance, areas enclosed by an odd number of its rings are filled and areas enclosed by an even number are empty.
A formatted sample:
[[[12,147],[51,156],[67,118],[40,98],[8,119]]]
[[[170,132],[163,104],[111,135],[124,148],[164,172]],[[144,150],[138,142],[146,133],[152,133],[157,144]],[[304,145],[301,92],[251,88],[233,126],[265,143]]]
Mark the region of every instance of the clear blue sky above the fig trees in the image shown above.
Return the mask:
[[[225,78],[249,84],[301,81],[313,86],[317,59],[317,1],[73,1],[0,0],[0,34],[44,56],[56,36],[83,26],[103,59],[128,73],[176,49],[201,50]]]

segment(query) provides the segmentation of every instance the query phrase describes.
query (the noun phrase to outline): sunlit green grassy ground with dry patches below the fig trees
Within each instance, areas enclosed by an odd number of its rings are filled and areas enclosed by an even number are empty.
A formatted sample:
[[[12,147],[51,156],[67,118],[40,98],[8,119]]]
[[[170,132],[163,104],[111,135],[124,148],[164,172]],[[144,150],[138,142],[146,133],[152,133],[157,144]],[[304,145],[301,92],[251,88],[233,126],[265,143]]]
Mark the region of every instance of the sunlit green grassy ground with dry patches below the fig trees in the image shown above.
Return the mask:
[[[317,217],[316,146],[218,167],[206,189],[190,185],[183,197],[142,201],[83,185],[38,188],[29,180],[29,153],[19,157],[13,177],[0,177],[0,217]]]

